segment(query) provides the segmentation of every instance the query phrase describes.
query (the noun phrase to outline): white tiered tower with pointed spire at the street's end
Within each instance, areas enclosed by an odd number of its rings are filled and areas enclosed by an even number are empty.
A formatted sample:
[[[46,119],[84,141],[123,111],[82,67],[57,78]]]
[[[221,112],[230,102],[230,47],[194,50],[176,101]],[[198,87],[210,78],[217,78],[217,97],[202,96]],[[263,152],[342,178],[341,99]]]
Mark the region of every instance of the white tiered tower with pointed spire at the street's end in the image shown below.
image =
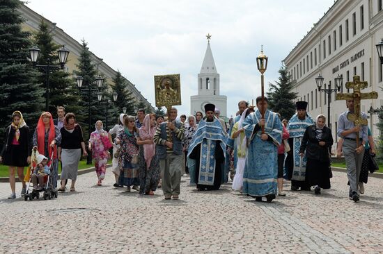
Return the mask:
[[[190,102],[192,115],[195,115],[197,111],[201,111],[205,115],[205,104],[213,103],[221,111],[221,117],[226,117],[227,97],[219,95],[219,74],[215,67],[209,40],[201,71],[198,74],[198,95],[190,96]]]

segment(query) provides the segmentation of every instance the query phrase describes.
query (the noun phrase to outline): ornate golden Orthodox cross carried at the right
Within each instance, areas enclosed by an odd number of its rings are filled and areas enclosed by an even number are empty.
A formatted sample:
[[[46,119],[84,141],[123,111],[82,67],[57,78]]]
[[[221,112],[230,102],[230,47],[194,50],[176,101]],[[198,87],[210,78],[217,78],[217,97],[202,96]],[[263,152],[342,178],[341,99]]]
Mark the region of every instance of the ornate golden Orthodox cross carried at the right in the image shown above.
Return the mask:
[[[361,100],[377,99],[377,92],[361,92],[362,89],[368,87],[367,81],[361,81],[360,76],[354,76],[353,81],[345,84],[347,89],[352,89],[351,93],[339,93],[336,94],[336,100],[353,100],[354,101],[354,113],[349,112],[347,119],[352,121],[355,126],[367,125],[367,119],[361,117]],[[357,133],[357,147],[359,147],[359,133]]]

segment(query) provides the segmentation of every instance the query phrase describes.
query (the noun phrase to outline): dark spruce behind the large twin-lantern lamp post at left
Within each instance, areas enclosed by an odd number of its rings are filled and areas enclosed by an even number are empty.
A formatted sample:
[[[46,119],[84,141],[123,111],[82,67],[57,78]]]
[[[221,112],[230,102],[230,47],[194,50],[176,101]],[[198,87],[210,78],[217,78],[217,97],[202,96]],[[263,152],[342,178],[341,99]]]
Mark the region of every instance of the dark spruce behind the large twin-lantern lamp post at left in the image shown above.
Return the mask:
[[[57,50],[61,47],[53,41],[53,35],[44,19],[41,20],[39,31],[35,35],[35,42],[40,49],[38,65],[59,65]],[[44,74],[44,70],[41,70]],[[40,76],[40,83],[45,87],[45,76]],[[79,114],[81,106],[79,105],[80,96],[77,90],[75,80],[70,74],[61,70],[53,70],[49,74],[49,112],[52,115],[56,113],[56,107],[63,105],[66,112],[73,112],[77,121],[84,121],[84,116]]]

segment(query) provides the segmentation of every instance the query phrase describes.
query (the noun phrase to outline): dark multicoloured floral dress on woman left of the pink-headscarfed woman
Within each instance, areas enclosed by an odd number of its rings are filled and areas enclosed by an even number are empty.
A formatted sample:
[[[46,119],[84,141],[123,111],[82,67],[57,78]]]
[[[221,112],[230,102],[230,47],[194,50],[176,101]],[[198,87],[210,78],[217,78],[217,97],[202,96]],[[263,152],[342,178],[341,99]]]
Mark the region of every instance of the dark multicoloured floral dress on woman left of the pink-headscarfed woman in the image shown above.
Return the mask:
[[[134,155],[139,153],[139,145],[137,144],[136,135],[125,130],[118,133],[120,139],[120,157],[118,158],[118,167],[120,168],[120,177],[118,183],[130,187],[139,185],[139,169],[138,164],[132,163]]]

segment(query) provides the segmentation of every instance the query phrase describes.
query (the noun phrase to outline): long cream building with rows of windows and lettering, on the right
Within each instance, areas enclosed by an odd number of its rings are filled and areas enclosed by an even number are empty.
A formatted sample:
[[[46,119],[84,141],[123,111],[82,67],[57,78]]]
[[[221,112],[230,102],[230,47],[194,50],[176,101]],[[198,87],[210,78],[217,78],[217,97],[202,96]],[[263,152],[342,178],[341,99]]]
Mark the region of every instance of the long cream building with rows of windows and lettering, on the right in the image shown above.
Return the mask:
[[[338,0],[285,58],[298,100],[308,102],[308,114],[315,118],[327,116],[329,99],[318,92],[315,78],[322,74],[323,88],[335,88],[334,78],[343,77],[341,92],[347,92],[345,83],[359,75],[368,81],[368,88],[361,92],[378,92],[378,99],[362,100],[361,110],[383,105],[382,64],[375,44],[383,37],[383,0]],[[352,92],[352,90],[350,90]],[[335,101],[331,94],[331,126],[333,137],[339,115],[346,110],[345,101]],[[368,114],[369,115],[369,114]],[[377,115],[369,115],[368,125],[374,136],[380,135]]]

